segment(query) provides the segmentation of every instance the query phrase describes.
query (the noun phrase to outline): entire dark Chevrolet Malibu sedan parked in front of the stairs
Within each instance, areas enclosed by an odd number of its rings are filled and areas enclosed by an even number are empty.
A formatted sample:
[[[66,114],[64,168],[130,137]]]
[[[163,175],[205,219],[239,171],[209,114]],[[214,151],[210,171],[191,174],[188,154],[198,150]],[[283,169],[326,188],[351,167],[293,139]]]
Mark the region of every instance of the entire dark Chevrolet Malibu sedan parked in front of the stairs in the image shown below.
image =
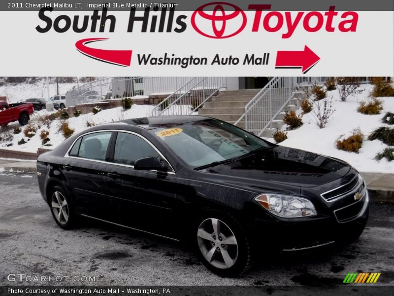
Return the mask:
[[[84,216],[188,241],[224,276],[269,250],[351,243],[368,217],[349,164],[203,116],[94,126],[41,154],[37,175],[60,227]]]

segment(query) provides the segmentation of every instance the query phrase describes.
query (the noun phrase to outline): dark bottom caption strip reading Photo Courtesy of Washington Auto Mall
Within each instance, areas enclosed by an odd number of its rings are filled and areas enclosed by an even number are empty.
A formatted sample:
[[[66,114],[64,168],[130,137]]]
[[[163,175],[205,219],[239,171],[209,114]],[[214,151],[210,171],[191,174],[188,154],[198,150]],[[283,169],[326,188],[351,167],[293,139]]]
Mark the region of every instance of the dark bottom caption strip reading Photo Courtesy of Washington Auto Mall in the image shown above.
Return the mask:
[[[313,284],[313,283],[311,283]],[[363,286],[355,289],[354,286],[339,286],[334,283],[325,286],[0,286],[1,296],[262,296],[262,295],[338,295],[338,296],[376,296],[392,295],[393,286]]]

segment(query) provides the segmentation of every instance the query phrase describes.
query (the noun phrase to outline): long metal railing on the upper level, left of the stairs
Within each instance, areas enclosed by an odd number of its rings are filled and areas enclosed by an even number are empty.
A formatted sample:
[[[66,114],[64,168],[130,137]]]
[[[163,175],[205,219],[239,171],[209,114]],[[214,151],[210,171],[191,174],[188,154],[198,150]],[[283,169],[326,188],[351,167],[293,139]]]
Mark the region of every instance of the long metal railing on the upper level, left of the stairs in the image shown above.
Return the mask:
[[[83,84],[66,93],[66,106],[121,99],[169,95],[193,77],[105,77]]]

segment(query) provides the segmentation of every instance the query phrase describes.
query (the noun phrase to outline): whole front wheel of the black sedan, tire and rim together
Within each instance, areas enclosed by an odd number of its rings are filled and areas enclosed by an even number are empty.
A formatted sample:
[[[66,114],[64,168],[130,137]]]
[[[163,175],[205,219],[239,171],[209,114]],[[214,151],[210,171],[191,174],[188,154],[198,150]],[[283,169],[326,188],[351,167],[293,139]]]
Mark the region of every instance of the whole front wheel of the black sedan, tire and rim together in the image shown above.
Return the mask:
[[[195,249],[202,264],[213,273],[223,277],[238,276],[246,272],[252,266],[252,247],[244,227],[235,217],[224,211],[206,210],[203,213],[194,227],[197,236],[194,240]],[[217,220],[220,225],[217,239],[213,236],[216,232],[213,230],[214,222],[212,220]],[[209,227],[211,222],[213,233],[205,228],[205,225]],[[199,236],[201,235],[199,232],[201,229],[212,235],[212,238],[201,238]],[[236,245],[234,245],[234,240],[230,244],[223,244],[225,241],[230,242],[229,238],[232,235],[235,237]],[[213,240],[216,240],[216,242]],[[237,251],[235,251],[235,248],[237,248]],[[227,259],[231,259],[230,264],[224,259],[224,251],[227,252]],[[207,257],[210,258],[212,253],[214,255],[208,261]]]

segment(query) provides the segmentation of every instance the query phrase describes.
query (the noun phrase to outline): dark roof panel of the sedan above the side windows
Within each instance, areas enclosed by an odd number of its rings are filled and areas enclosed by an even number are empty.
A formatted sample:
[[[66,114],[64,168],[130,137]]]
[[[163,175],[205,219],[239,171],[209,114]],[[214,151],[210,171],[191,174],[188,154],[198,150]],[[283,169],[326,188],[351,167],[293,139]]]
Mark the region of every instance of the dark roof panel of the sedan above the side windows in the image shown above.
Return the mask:
[[[206,116],[200,116],[200,115],[162,115],[162,116],[126,119],[117,122],[102,124],[100,125],[100,127],[113,128],[114,125],[116,124],[122,125],[124,127],[124,124],[127,124],[131,126],[141,127],[146,130],[151,130],[168,125],[196,122],[196,121],[202,121],[207,119],[212,119],[212,118]]]

